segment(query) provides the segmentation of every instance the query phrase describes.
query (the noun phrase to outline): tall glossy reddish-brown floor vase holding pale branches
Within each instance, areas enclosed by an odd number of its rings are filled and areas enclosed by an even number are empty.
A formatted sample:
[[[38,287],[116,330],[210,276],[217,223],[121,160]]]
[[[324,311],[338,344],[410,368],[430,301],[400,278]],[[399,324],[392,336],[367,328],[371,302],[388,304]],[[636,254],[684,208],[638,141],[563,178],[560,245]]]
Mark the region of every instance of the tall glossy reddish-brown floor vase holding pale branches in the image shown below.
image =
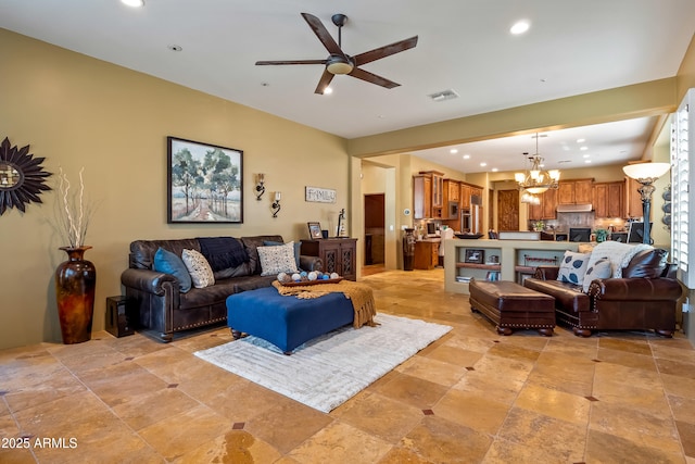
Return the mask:
[[[91,247],[62,247],[67,261],[55,269],[55,298],[63,343],[81,343],[91,338],[97,269],[84,259]]]

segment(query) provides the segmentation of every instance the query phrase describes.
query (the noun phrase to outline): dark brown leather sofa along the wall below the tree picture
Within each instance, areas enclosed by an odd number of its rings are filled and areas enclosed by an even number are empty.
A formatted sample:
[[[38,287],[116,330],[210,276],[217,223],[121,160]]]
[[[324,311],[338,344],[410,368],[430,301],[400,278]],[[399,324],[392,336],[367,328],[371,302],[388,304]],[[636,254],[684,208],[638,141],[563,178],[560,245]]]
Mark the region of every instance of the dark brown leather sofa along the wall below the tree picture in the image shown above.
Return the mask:
[[[177,240],[136,240],[130,243],[128,268],[121,275],[129,311],[138,326],[164,342],[174,333],[227,321],[227,297],[245,290],[269,287],[276,276],[262,276],[257,247],[283,242],[279,235],[241,237],[248,260],[232,268],[215,272],[215,284],[181,292],[173,274],[154,271],[154,255],[162,248],[180,256],[184,249],[201,252],[198,238]],[[321,271],[317,256],[300,256],[304,271]]]

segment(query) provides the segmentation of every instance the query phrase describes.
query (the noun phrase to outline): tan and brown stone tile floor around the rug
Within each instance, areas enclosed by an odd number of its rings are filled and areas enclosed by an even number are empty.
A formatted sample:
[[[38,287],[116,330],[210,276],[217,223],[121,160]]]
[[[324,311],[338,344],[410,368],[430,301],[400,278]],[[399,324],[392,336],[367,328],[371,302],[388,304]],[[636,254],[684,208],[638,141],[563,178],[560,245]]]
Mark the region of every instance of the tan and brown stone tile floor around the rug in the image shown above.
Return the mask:
[[[502,337],[442,269],[363,281],[379,311],[454,330],[330,414],[192,354],[225,328],[169,344],[98,333],[0,351],[0,462],[695,463],[682,334]]]

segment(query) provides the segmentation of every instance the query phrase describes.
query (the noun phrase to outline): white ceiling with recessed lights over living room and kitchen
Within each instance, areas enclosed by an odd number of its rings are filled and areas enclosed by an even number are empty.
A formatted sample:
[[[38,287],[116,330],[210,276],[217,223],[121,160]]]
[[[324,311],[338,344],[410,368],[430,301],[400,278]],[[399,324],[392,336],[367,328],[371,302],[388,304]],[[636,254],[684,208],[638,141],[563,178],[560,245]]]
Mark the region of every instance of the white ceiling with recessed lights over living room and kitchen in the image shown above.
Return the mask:
[[[363,66],[401,86],[336,76],[333,92],[320,96],[321,65],[256,66],[328,55],[301,12],[336,38],[330,17],[346,14],[349,54],[419,36],[416,48]],[[693,0],[146,0],[142,9],[119,0],[0,0],[2,28],[345,138],[672,77],[695,33],[693,17]],[[530,30],[510,35],[521,18]],[[428,97],[448,89],[458,98]],[[553,131],[539,149],[548,167],[579,167],[584,154],[593,165],[623,162],[641,155],[654,124]],[[415,154],[464,172],[517,170],[535,140],[469,143],[458,156],[448,150]]]

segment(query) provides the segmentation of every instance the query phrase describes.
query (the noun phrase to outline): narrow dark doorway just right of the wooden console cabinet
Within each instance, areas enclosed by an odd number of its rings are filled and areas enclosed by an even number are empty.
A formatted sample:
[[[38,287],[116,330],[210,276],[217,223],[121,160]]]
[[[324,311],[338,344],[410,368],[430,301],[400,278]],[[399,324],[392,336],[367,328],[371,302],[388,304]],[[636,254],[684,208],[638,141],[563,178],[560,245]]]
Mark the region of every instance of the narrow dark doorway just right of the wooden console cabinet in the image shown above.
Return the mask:
[[[386,252],[386,196],[365,195],[365,250],[363,275],[384,269]]]

